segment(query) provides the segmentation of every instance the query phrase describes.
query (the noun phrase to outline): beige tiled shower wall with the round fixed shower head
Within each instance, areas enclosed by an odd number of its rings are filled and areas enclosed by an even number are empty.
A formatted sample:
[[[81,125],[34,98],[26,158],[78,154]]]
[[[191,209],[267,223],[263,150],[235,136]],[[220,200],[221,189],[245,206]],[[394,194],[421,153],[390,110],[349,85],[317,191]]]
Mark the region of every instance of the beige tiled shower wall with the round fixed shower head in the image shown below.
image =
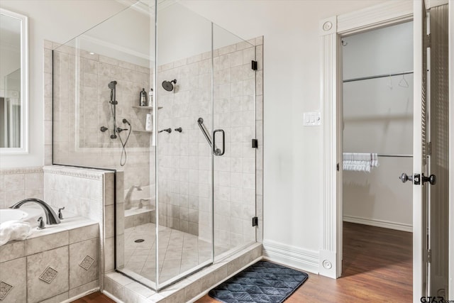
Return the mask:
[[[251,218],[262,202],[263,40],[250,42],[214,50],[213,59],[214,128],[226,132],[226,153],[214,158],[214,227],[216,244],[228,248],[255,241]],[[211,52],[158,67],[158,83],[171,79],[173,92],[158,88],[158,128],[183,131],[158,135],[160,224],[209,239],[211,150],[196,121],[211,126]]]

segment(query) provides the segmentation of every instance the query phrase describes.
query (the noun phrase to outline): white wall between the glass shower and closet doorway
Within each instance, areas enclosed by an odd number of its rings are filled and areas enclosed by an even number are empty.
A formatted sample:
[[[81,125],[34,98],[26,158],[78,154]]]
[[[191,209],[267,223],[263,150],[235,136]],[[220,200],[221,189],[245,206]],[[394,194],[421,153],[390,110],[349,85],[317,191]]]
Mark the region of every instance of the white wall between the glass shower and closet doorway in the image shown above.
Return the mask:
[[[382,2],[180,1],[242,38],[264,35],[264,241],[321,247],[321,128],[303,126],[321,108],[319,20]]]

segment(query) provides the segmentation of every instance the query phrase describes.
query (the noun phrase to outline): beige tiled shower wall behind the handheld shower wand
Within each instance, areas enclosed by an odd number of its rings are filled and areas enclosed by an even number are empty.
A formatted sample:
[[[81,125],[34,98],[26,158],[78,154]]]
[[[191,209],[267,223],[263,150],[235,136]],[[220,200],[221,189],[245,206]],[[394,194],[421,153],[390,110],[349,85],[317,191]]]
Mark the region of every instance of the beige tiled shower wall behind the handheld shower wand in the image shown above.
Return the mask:
[[[56,48],[53,52],[54,163],[123,170],[125,191],[133,185],[150,184],[153,191],[155,181],[154,174],[150,180],[150,170],[154,171],[154,162],[150,165],[150,157],[154,158],[155,148],[150,148],[150,133],[140,132],[145,129],[145,115],[150,109],[133,107],[138,106],[140,90],[150,90],[153,82],[150,82],[153,77],[150,69],[103,55],[91,55],[85,50],[58,46],[45,43],[45,48]],[[52,52],[45,50],[45,55],[52,55]],[[45,71],[52,72],[52,57],[45,58],[45,65]],[[128,119],[133,126],[123,167],[120,165],[121,142],[118,138],[110,138],[111,91],[108,84],[114,80],[117,82],[117,127],[129,128],[123,119]],[[52,77],[45,77],[46,87],[52,89]],[[46,112],[48,101],[46,99]],[[109,130],[101,132],[101,126]],[[49,126],[46,124],[46,127]],[[121,133],[123,142],[127,133]],[[150,192],[150,197],[154,196],[154,192]]]

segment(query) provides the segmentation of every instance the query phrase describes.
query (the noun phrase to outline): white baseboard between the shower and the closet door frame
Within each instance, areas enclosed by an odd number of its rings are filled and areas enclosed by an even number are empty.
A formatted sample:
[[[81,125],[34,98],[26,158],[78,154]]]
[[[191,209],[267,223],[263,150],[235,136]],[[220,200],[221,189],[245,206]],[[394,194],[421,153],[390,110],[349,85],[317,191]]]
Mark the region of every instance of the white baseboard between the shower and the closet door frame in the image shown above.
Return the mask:
[[[317,251],[265,240],[263,258],[292,268],[319,273],[319,252]]]

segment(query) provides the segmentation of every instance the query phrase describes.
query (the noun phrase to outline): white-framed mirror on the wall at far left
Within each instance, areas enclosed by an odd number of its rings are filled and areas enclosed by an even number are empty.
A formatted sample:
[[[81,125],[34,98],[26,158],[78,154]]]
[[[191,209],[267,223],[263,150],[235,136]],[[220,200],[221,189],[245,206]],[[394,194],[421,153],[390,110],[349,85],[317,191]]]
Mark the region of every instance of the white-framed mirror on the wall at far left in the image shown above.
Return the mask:
[[[28,152],[27,17],[0,9],[0,153]]]

